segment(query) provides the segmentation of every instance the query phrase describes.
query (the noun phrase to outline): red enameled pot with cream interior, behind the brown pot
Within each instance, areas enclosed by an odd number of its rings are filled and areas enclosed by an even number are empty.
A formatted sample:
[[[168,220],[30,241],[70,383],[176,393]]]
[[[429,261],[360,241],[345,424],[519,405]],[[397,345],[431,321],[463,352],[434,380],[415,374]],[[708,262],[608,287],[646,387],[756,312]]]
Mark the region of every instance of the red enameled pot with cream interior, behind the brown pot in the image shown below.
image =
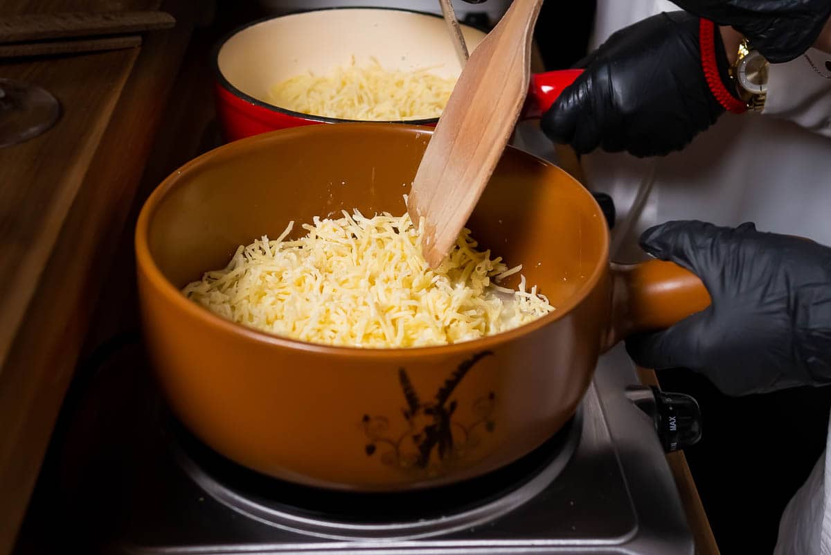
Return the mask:
[[[462,31],[471,52],[486,34],[465,25]],[[399,70],[431,67],[440,76],[459,76],[461,71],[444,22],[430,13],[353,7],[253,22],[232,32],[214,50],[217,113],[225,140],[351,121],[274,106],[268,102],[268,91],[306,71],[325,74],[349,63],[352,56],[358,64],[375,57],[382,66]],[[579,74],[580,70],[534,74],[523,117],[539,117]],[[406,123],[435,125],[437,120]]]

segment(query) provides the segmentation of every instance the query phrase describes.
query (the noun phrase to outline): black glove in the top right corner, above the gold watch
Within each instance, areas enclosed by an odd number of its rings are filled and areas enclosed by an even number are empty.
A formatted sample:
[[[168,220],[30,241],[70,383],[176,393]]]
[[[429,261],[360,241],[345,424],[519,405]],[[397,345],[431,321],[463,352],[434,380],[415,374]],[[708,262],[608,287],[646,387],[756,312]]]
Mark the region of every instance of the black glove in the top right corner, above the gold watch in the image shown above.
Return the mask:
[[[729,25],[768,61],[802,55],[831,15],[829,0],[672,0],[700,17]]]

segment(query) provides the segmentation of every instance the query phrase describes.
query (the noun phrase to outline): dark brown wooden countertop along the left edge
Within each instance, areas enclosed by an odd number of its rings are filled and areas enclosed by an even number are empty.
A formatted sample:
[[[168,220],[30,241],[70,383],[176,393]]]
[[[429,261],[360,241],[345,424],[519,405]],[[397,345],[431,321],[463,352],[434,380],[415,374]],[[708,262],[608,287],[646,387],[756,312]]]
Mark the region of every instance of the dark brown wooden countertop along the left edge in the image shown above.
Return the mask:
[[[145,10],[151,0],[3,2],[3,15]],[[0,62],[0,76],[61,102],[47,133],[0,149],[0,553],[12,549],[189,40],[188,2],[165,2],[175,29],[141,47]]]

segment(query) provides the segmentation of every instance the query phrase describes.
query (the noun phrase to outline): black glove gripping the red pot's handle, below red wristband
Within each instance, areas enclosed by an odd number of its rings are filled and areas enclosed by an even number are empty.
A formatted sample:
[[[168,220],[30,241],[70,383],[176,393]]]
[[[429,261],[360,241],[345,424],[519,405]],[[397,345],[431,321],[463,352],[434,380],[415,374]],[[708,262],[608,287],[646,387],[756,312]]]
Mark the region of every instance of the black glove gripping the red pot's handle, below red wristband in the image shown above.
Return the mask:
[[[598,146],[636,156],[681,150],[725,111],[701,68],[700,19],[660,13],[614,33],[578,66],[586,71],[543,115],[548,138],[579,154]],[[715,31],[716,61],[729,82]]]

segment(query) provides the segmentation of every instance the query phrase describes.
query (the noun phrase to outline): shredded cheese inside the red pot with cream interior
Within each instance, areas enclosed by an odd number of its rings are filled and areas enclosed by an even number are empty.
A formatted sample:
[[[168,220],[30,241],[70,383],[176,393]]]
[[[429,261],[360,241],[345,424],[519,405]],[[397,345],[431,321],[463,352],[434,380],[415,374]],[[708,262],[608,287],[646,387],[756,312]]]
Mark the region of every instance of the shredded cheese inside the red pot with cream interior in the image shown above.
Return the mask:
[[[303,114],[347,120],[420,120],[439,117],[454,78],[416,71],[389,71],[375,59],[367,66],[335,67],[326,76],[312,72],[273,86],[268,101]]]

